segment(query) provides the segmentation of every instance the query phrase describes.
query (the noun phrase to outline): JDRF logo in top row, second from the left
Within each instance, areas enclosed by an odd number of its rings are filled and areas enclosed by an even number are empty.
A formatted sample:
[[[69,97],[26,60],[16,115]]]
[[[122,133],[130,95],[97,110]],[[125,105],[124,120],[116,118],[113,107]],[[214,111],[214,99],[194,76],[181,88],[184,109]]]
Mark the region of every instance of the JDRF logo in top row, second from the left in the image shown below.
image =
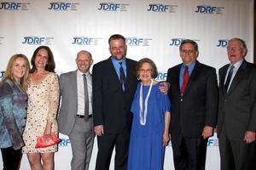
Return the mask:
[[[67,11],[67,10],[77,10],[79,3],[59,3],[52,2],[49,3],[49,10]]]

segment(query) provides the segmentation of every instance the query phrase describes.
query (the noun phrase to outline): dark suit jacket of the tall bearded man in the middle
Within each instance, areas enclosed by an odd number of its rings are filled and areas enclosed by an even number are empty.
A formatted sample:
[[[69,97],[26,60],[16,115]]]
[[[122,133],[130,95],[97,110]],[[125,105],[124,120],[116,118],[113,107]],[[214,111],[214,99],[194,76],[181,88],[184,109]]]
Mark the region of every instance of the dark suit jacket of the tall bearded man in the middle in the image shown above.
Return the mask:
[[[131,128],[131,101],[137,88],[137,77],[133,71],[136,61],[125,59],[125,92],[114,70],[111,58],[93,66],[94,126],[103,125],[104,133],[119,133]]]

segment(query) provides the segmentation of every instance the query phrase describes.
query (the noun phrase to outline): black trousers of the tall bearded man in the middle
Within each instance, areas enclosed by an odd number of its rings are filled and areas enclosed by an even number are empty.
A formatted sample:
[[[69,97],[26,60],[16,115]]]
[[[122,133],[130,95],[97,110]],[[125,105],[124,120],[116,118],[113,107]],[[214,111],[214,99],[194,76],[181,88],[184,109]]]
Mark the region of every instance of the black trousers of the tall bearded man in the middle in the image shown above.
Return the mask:
[[[115,147],[114,169],[127,169],[130,133],[130,130],[125,128],[121,133],[104,133],[102,136],[97,136],[98,153],[96,158],[96,170],[109,169],[113,147]]]

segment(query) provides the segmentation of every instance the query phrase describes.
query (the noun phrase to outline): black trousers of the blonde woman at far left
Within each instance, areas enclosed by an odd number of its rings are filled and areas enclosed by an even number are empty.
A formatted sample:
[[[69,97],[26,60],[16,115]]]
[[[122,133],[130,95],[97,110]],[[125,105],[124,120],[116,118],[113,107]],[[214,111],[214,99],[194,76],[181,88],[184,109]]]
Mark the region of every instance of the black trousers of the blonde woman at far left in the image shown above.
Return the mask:
[[[21,149],[14,150],[13,147],[1,148],[3,159],[3,170],[17,170],[20,167],[22,157]]]

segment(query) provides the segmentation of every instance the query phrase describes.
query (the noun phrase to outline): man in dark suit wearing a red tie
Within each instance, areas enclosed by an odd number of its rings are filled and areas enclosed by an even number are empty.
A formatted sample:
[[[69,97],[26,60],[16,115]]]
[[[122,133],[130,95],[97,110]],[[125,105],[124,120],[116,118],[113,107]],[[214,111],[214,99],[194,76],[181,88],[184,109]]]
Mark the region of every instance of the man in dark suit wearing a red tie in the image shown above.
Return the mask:
[[[212,136],[218,113],[218,82],[214,68],[198,60],[198,45],[183,40],[179,47],[182,64],[168,70],[172,102],[170,133],[174,167],[205,169],[207,139]]]

